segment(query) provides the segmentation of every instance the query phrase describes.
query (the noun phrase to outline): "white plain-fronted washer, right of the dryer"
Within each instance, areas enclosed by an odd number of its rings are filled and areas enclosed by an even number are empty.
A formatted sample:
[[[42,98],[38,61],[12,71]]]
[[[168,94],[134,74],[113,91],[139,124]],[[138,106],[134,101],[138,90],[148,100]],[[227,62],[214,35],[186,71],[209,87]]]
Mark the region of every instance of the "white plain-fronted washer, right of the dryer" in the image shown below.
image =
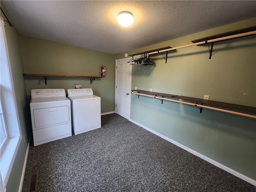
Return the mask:
[[[100,97],[91,88],[68,89],[75,135],[101,128]]]

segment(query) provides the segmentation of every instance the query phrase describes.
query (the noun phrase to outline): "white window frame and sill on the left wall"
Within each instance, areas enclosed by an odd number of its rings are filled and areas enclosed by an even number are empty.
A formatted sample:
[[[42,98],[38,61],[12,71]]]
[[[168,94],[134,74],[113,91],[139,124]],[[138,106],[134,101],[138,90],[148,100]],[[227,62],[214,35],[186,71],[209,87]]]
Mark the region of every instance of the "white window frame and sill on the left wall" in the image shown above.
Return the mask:
[[[6,183],[8,182],[22,136],[4,29],[4,20],[2,17],[0,26],[0,96],[9,135],[3,150],[1,150],[0,156],[0,192],[5,192]]]

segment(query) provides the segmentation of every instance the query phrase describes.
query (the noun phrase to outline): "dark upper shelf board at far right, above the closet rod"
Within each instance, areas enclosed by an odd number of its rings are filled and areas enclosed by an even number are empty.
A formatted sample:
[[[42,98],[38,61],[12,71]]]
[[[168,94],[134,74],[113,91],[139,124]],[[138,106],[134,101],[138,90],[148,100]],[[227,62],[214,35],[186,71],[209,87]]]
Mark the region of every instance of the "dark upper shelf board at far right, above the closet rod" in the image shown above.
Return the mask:
[[[191,42],[198,43],[198,42],[202,42],[202,41],[208,41],[208,40],[222,38],[222,37],[226,37],[226,36],[230,36],[230,35],[237,35],[237,34],[251,32],[251,31],[255,31],[255,30],[256,30],[256,26],[252,26],[252,27],[234,30],[234,31],[226,32],[226,33],[220,33],[220,34],[216,34],[216,35],[212,35],[212,36],[208,36],[208,37],[203,37],[200,39],[195,39],[195,40],[192,40]]]

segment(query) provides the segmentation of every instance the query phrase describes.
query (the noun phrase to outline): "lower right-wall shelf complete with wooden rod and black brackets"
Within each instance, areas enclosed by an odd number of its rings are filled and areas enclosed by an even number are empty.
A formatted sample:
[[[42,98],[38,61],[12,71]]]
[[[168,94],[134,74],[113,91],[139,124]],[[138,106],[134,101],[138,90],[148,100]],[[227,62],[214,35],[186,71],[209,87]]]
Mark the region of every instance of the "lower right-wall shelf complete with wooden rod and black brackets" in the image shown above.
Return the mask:
[[[148,96],[148,97],[152,97],[152,98],[158,98],[161,100],[162,103],[163,103],[163,100],[168,100],[168,101],[172,101],[172,102],[178,102],[178,103],[183,103],[183,104],[189,104],[192,106],[197,106],[200,109],[200,113],[202,113],[202,108],[208,108],[208,109],[212,109],[212,110],[228,112],[228,113],[237,114],[237,115],[241,115],[241,116],[247,116],[250,118],[256,118],[256,115],[250,115],[250,114],[246,114],[246,113],[223,109],[223,108],[232,108],[232,109],[236,109],[236,110],[243,110],[243,111],[256,113],[255,107],[243,106],[243,105],[237,105],[237,104],[231,104],[231,103],[225,103],[225,102],[218,102],[218,101],[212,101],[212,100],[204,100],[204,99],[192,98],[192,97],[186,97],[186,96],[178,96],[178,95],[173,95],[173,94],[150,92],[150,91],[146,91],[146,90],[131,90],[131,91],[132,91],[132,94],[136,94],[138,96],[138,98],[140,98],[140,95],[142,95],[142,96]],[[183,101],[180,101],[180,100],[183,100]],[[212,106],[216,106],[216,107],[212,107]]]

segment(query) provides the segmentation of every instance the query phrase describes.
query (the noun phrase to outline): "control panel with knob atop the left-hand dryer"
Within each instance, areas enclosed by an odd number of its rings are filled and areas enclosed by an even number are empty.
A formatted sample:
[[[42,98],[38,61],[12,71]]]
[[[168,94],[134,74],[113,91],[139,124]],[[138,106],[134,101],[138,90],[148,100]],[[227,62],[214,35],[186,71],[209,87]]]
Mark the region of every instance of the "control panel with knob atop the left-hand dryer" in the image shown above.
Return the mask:
[[[66,96],[64,89],[32,89],[31,98]]]

